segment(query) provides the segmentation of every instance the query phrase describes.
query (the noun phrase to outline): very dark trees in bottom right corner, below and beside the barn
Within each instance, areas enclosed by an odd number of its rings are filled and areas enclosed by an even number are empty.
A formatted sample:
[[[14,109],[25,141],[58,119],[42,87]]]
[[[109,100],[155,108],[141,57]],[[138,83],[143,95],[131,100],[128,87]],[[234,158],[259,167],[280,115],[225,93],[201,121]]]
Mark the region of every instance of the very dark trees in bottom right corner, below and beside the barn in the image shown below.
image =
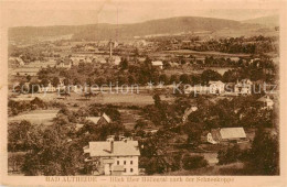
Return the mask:
[[[244,168],[240,170],[241,174],[278,175],[278,135],[258,128],[251,148],[241,150],[238,145],[233,145],[226,150],[220,150],[217,158],[220,165],[235,162],[244,163]]]

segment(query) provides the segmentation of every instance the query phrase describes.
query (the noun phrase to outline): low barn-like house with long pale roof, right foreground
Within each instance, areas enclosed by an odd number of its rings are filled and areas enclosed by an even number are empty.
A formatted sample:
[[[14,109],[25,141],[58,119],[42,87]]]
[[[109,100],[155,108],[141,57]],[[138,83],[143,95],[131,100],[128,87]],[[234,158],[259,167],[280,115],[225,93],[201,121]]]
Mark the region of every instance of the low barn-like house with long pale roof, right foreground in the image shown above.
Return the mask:
[[[246,141],[246,133],[243,128],[213,129],[208,133],[208,142],[212,144]]]

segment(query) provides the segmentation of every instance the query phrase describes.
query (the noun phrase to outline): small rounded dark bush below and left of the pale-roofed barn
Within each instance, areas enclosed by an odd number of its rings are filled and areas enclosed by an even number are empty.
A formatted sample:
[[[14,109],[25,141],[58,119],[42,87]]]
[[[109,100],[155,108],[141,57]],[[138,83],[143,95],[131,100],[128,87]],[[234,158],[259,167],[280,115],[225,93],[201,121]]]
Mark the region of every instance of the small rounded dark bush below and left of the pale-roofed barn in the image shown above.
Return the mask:
[[[183,168],[187,170],[205,167],[208,165],[208,161],[200,155],[191,156],[190,154],[185,154],[182,158]]]

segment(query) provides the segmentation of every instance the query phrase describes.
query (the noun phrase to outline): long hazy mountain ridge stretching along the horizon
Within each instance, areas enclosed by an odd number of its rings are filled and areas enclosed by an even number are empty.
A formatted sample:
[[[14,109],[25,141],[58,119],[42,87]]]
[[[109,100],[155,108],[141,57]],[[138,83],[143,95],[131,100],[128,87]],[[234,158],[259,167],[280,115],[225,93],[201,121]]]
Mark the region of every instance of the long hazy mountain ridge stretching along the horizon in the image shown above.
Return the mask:
[[[59,35],[73,35],[74,40],[109,40],[131,38],[134,36],[147,36],[157,34],[177,34],[188,32],[216,32],[221,30],[237,30],[248,28],[251,24],[267,24],[267,18],[247,20],[244,22],[200,18],[179,16],[160,20],[151,20],[132,24],[89,24],[89,25],[56,25],[56,26],[21,26],[10,28],[10,40],[25,40],[36,37],[49,37]],[[272,22],[272,19],[269,19]],[[268,23],[269,23],[268,22]],[[244,25],[244,26],[243,26]],[[254,26],[254,25],[253,25]]]

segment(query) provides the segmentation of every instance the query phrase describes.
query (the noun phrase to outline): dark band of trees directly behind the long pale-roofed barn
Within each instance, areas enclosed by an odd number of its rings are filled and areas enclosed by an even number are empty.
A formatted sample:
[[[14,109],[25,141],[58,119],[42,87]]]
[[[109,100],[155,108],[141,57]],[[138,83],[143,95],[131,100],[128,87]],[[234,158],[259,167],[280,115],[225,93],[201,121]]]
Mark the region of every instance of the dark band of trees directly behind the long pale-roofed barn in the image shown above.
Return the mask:
[[[262,109],[256,96],[223,99],[216,103],[205,101],[189,116],[189,122],[201,123],[202,128],[274,128],[276,114],[273,110]]]

